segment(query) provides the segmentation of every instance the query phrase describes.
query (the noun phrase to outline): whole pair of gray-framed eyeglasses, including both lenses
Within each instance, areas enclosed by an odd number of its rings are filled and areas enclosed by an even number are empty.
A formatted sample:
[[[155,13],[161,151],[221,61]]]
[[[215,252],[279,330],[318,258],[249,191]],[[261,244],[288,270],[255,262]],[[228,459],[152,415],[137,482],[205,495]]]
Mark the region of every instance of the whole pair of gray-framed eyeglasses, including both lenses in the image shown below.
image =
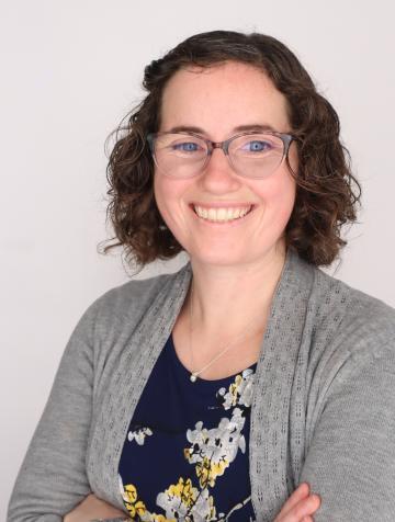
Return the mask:
[[[241,133],[212,141],[195,133],[150,133],[147,141],[158,170],[171,178],[202,173],[215,148],[223,149],[234,171],[245,178],[268,178],[287,157],[292,140],[284,133]]]

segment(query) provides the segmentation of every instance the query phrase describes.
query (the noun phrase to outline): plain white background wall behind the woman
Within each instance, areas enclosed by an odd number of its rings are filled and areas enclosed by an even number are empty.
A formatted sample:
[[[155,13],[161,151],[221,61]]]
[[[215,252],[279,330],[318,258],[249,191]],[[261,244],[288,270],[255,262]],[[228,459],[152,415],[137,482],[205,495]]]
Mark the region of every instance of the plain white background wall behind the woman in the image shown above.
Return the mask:
[[[334,104],[363,186],[336,276],[395,306],[392,1],[1,0],[0,520],[66,342],[128,275],[97,253],[104,139],[142,98],[146,64],[217,29],[287,44]],[[172,272],[185,258],[138,277]],[[336,266],[328,270],[335,273]]]

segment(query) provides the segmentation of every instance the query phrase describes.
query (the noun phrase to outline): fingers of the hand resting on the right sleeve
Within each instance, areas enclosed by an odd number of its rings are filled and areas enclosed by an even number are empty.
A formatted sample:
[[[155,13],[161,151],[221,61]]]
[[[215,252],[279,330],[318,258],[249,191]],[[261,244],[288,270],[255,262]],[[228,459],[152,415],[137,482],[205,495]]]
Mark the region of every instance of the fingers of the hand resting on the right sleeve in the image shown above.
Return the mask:
[[[309,485],[302,483],[286,500],[274,522],[314,522],[313,513],[320,507],[320,497],[309,493]]]

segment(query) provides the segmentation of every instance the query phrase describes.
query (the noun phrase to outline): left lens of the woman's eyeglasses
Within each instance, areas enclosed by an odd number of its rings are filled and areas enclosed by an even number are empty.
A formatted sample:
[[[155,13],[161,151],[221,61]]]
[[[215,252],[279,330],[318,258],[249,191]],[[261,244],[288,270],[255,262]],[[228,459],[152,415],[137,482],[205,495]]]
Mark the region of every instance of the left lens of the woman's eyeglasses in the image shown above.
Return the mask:
[[[174,178],[200,172],[207,158],[206,143],[189,134],[162,134],[155,139],[155,161],[160,171]]]

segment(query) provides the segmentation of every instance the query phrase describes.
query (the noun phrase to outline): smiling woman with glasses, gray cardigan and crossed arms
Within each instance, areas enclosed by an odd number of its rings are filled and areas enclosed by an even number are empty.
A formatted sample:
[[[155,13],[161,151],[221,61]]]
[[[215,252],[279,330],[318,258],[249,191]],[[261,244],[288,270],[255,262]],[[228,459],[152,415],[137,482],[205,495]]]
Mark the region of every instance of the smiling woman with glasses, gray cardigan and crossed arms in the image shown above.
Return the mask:
[[[395,314],[319,270],[360,196],[336,112],[258,33],[194,35],[144,86],[116,245],[190,261],[84,313],[9,521],[394,520]]]

